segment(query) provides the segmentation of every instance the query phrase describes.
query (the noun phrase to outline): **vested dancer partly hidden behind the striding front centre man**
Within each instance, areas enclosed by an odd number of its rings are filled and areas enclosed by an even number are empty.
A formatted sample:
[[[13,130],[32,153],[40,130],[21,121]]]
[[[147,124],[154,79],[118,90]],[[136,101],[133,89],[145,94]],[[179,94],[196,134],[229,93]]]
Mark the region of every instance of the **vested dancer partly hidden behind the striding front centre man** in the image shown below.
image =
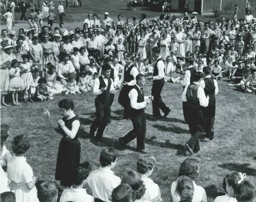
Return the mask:
[[[132,86],[135,85],[135,78],[138,74],[139,71],[133,66],[133,55],[127,55],[126,65],[125,68],[123,68],[122,77],[119,82],[123,85],[123,87],[118,97],[118,102],[123,106],[123,120],[128,120],[130,117],[130,101],[128,94],[130,93]]]

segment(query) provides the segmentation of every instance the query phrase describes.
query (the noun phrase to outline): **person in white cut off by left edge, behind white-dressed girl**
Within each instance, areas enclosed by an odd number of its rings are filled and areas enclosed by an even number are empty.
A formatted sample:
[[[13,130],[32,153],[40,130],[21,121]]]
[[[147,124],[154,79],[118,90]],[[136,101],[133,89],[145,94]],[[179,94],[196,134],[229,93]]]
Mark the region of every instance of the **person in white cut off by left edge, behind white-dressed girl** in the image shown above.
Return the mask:
[[[10,135],[10,127],[7,124],[1,124],[1,167],[6,171],[8,160],[11,158],[11,154],[4,145],[5,140]]]

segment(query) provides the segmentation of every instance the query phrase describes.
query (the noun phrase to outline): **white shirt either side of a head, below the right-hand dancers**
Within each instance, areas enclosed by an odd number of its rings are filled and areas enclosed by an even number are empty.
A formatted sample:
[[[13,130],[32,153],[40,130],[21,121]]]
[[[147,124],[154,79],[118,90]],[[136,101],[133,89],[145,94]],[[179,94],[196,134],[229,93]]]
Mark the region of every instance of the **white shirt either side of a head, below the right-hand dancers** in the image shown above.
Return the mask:
[[[198,186],[197,184],[195,184],[195,181],[192,181],[192,182],[194,184],[194,194],[193,194],[192,202],[207,202],[205,189],[203,189],[202,186]],[[180,201],[180,196],[176,192],[176,188],[177,188],[177,181],[174,181],[171,184],[171,195],[172,195],[173,202]]]

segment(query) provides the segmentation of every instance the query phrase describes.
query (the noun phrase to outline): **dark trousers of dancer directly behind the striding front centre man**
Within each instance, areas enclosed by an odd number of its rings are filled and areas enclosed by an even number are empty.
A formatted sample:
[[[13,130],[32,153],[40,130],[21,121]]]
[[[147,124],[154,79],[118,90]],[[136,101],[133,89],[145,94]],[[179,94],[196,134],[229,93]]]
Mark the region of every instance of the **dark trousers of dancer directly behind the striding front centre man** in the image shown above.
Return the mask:
[[[124,85],[119,93],[118,102],[123,106],[123,119],[129,119],[130,117],[130,93],[132,86]]]

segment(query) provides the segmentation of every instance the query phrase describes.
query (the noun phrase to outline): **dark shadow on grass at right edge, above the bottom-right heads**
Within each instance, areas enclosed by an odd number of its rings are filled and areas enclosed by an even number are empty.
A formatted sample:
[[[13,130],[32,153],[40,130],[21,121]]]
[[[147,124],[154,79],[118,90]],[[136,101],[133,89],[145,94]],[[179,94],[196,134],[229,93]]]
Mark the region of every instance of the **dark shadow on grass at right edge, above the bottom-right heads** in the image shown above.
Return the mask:
[[[224,163],[222,165],[218,165],[218,167],[228,169],[229,171],[245,172],[246,175],[256,176],[256,169],[248,168],[248,166],[250,166],[249,163],[241,165],[237,163]]]

